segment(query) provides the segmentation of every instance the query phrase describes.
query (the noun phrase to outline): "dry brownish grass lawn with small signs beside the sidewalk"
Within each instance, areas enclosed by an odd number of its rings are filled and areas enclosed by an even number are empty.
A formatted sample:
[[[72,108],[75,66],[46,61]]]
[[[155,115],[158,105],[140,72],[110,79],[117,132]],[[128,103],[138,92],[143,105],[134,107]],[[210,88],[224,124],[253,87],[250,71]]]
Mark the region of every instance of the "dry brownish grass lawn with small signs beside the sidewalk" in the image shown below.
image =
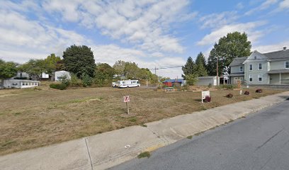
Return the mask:
[[[41,89],[0,91],[0,155],[281,92],[263,89],[256,94],[250,89],[245,96],[239,91],[211,91],[212,102],[202,104],[200,92],[192,91]],[[226,98],[229,93],[234,97]],[[126,95],[130,95],[130,115],[123,103]]]

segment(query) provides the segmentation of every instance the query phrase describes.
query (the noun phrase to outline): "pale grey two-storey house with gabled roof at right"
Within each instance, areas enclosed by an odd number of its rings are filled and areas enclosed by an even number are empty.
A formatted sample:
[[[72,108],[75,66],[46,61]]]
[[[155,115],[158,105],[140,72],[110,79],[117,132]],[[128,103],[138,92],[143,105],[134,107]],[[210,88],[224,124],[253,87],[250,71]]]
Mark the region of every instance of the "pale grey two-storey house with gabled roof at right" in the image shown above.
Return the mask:
[[[289,50],[260,53],[256,50],[249,57],[237,57],[229,64],[230,84],[241,80],[246,85],[289,85]]]

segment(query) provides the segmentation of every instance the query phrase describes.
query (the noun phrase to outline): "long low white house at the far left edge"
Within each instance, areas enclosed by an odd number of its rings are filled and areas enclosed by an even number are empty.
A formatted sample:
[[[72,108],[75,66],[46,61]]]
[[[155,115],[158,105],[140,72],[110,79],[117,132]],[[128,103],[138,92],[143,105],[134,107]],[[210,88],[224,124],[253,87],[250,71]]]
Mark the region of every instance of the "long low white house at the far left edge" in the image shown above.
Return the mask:
[[[1,86],[4,89],[24,89],[40,86],[40,81],[23,80],[23,79],[3,79]]]

